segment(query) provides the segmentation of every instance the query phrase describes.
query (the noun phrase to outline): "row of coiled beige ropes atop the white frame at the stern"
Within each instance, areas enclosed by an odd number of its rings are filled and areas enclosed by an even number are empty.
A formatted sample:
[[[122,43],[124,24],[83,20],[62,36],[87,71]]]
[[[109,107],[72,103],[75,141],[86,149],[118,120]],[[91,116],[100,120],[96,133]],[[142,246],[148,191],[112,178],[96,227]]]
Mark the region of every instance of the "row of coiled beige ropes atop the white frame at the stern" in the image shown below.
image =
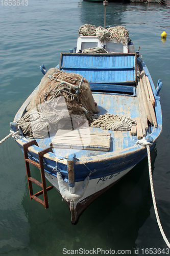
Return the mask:
[[[125,45],[127,38],[129,37],[129,31],[124,26],[109,27],[104,29],[101,26],[96,28],[90,24],[84,24],[79,28],[78,33],[79,35],[82,34],[83,36],[96,36],[100,39],[102,44],[104,39],[106,39],[106,41],[115,39],[117,44],[119,44],[122,40],[123,45]]]

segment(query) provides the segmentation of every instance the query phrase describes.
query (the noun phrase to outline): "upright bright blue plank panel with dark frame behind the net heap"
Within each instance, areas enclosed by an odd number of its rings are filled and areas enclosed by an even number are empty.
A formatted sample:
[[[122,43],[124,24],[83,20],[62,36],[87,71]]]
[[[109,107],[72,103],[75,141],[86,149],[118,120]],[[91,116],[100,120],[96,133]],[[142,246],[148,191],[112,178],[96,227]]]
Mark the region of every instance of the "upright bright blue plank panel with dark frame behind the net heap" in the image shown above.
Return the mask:
[[[78,73],[89,82],[136,82],[136,54],[61,53],[60,70]]]

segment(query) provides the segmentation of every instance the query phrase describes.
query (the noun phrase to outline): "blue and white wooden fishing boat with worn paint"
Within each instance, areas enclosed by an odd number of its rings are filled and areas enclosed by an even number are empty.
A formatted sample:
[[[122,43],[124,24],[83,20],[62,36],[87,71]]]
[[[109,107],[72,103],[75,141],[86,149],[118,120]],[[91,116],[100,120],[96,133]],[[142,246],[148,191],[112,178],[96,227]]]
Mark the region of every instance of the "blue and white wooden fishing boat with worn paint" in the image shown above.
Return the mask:
[[[109,41],[105,38],[101,42],[96,35],[87,36],[79,32],[77,48],[70,53],[61,53],[55,72],[70,73],[71,79],[74,79],[75,74],[83,77],[81,81],[74,80],[78,82],[76,87],[73,84],[76,88],[75,97],[79,95],[81,82],[89,82],[93,103],[98,108],[94,117],[99,117],[98,119],[89,121],[86,109],[86,114],[78,115],[80,125],[75,126],[72,119],[70,125],[67,122],[66,126],[61,129],[57,126],[56,132],[50,133],[46,124],[46,135],[43,138],[36,137],[36,133],[34,138],[30,138],[20,120],[29,113],[28,106],[39,86],[22,104],[11,123],[12,131],[20,131],[15,140],[24,152],[30,198],[47,208],[47,191],[55,187],[70,208],[72,223],[78,221],[83,210],[95,198],[147,156],[146,148],[137,144],[138,140],[145,137],[145,140],[152,142],[152,149],[161,133],[162,114],[158,96],[161,80],[155,89],[142,57],[139,52],[133,52],[131,47],[133,48],[133,44],[128,37],[119,40],[119,43],[115,38]],[[105,51],[99,53],[104,48]],[[50,87],[58,79],[54,77],[56,69],[48,71],[42,78],[51,78],[48,81]],[[71,83],[71,79],[70,82],[58,79],[58,83],[66,86]],[[60,99],[62,97],[57,98]],[[40,109],[44,108],[49,100],[44,98],[39,106],[36,105],[36,110],[40,105]],[[67,111],[67,105],[64,107],[63,101],[61,103],[60,111]],[[79,99],[77,103],[84,108]],[[99,124],[102,118],[105,120]],[[29,121],[31,119],[30,114]],[[103,123],[105,127],[102,126]],[[31,177],[30,163],[40,169],[41,182]],[[45,177],[52,186],[46,188]],[[33,193],[32,182],[42,187],[39,193]],[[42,194],[44,201],[39,198]]]

